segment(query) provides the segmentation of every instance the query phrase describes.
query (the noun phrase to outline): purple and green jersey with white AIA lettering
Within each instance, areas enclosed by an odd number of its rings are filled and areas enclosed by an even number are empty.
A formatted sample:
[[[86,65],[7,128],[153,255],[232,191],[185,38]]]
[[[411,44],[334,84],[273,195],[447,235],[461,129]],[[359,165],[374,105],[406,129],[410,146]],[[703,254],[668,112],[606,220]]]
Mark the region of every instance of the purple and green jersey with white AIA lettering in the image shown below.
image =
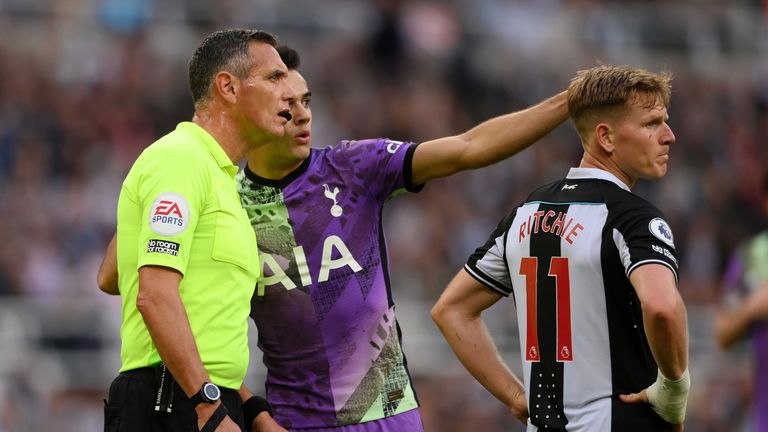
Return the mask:
[[[415,191],[415,145],[312,149],[282,180],[246,168],[239,192],[263,277],[251,317],[267,398],[287,428],[353,425],[418,407],[390,290],[382,207]]]

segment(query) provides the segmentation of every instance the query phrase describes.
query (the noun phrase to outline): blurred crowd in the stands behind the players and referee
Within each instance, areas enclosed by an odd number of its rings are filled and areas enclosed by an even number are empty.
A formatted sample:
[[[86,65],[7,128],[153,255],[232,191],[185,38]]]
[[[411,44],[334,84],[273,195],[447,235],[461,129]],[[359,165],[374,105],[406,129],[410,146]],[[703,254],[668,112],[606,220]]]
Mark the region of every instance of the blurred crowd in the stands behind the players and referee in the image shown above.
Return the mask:
[[[768,225],[758,202],[768,167],[763,2],[252,3],[0,1],[0,432],[101,430],[120,306],[98,292],[95,272],[120,183],[144,147],[190,118],[194,47],[233,26],[272,31],[301,53],[318,147],[459,133],[598,63],[671,71],[670,171],[636,192],[666,213],[681,257],[694,386],[687,428],[743,430],[750,365],[744,352],[718,351],[711,321],[724,263]],[[512,160],[434,181],[386,210],[428,431],[519,429],[453,359],[429,308],[500,217],[580,156],[564,125]],[[492,331],[519,365],[512,303],[491,311]]]

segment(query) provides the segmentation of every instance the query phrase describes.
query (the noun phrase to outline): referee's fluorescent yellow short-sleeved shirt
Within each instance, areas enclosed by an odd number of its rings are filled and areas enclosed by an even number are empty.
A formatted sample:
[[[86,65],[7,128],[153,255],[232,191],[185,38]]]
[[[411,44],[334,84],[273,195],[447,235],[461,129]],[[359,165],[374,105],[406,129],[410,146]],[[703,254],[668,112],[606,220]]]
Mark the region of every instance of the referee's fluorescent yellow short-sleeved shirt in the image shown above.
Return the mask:
[[[260,266],[237,170],[213,137],[184,122],[147,147],[128,173],[117,206],[121,372],[161,362],[136,308],[138,269],[158,265],[183,275],[181,300],[211,381],[240,388]]]

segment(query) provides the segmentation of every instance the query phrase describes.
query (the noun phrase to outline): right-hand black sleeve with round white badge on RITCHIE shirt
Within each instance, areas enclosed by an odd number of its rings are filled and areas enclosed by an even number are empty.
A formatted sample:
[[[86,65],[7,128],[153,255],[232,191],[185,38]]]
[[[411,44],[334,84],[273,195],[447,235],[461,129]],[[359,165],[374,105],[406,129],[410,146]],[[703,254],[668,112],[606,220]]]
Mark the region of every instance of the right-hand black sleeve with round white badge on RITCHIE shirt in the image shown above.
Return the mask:
[[[613,241],[629,277],[645,264],[662,264],[678,278],[677,251],[672,228],[656,208],[625,211],[613,229]]]

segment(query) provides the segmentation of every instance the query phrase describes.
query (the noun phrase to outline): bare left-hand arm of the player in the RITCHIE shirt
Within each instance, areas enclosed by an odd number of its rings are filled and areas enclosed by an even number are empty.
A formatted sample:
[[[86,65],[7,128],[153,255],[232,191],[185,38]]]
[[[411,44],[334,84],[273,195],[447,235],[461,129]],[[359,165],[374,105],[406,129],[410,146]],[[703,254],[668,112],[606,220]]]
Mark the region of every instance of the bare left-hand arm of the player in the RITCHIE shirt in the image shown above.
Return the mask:
[[[469,373],[526,424],[525,387],[501,359],[480,316],[500,298],[462,269],[432,308],[432,319]]]

